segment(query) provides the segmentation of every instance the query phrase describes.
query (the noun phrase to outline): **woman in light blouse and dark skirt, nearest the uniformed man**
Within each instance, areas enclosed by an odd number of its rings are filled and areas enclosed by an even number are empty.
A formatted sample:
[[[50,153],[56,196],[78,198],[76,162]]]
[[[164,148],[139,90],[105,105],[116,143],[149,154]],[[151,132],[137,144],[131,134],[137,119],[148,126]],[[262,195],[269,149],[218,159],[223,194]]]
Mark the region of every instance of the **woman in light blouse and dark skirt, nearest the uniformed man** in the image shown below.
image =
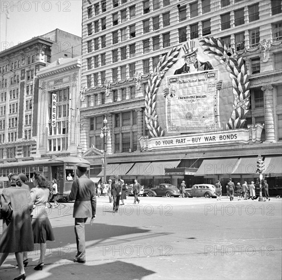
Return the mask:
[[[48,201],[49,189],[48,182],[42,173],[38,171],[33,175],[34,188],[31,189],[31,197],[34,203],[32,212],[32,227],[34,243],[40,244],[40,258],[35,270],[42,270],[44,267],[44,255],[46,251],[46,241],[54,241],[54,234],[45,210]]]

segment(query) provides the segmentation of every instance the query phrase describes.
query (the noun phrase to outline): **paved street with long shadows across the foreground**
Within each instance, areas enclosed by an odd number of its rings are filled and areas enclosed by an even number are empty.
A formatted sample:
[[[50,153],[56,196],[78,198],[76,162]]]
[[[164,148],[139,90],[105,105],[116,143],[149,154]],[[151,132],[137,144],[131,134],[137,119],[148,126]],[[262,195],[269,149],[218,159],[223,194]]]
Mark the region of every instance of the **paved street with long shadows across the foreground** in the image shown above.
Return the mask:
[[[72,203],[50,209],[55,240],[43,271],[29,256],[26,279],[281,279],[281,202],[129,197],[118,213],[97,198],[86,225],[87,263],[73,263]],[[2,230],[2,228],[1,228]],[[1,279],[18,275],[13,255]]]

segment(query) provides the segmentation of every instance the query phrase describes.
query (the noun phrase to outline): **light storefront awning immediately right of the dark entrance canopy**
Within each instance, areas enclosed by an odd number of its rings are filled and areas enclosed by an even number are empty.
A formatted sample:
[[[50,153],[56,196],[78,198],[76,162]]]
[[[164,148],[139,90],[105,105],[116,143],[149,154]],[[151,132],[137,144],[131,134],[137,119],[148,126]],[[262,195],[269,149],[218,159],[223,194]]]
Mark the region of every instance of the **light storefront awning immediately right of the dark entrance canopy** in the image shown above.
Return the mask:
[[[238,158],[204,159],[194,176],[234,174]]]

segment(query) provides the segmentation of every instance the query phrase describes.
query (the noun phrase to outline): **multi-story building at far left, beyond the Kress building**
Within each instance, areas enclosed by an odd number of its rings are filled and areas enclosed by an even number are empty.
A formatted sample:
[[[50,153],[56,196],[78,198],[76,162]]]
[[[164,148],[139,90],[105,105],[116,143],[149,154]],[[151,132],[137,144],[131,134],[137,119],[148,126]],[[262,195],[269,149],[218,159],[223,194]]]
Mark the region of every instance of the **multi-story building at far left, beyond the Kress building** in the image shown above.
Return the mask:
[[[0,52],[2,162],[38,156],[36,140],[43,124],[37,73],[59,57],[72,58],[80,51],[80,37],[56,29]]]

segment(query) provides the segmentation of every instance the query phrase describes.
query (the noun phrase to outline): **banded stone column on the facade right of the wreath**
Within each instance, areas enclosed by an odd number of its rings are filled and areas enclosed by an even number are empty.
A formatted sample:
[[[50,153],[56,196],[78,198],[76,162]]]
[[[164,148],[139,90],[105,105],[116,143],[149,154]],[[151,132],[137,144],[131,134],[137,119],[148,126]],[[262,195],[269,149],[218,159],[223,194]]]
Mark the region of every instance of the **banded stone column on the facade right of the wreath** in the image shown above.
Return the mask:
[[[262,87],[264,92],[264,116],[265,116],[265,142],[274,143],[274,112],[273,112],[273,87],[265,85]]]

